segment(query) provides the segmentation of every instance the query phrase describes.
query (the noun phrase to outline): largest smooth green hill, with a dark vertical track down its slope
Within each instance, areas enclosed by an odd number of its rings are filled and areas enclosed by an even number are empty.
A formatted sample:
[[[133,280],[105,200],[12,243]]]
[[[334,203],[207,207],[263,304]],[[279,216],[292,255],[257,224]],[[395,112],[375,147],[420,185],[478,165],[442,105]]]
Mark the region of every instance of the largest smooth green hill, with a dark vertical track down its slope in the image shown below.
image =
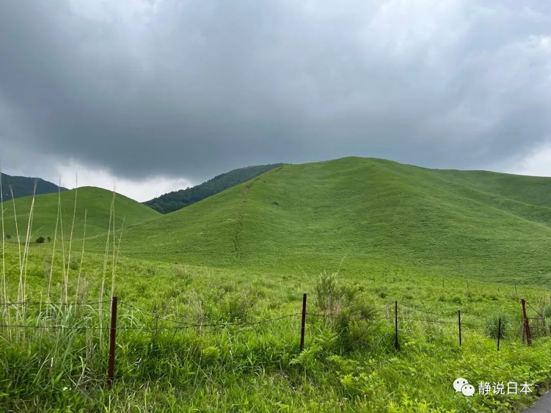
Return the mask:
[[[551,178],[348,157],[285,165],[129,228],[122,253],[268,271],[547,282]]]

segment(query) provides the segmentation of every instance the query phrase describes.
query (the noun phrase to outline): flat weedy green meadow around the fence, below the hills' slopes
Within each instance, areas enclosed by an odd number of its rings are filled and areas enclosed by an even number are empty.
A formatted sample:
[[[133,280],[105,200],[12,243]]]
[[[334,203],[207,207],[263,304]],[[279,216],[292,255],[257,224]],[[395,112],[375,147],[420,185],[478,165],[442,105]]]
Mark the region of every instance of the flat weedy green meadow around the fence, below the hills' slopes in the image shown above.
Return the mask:
[[[10,297],[18,268],[12,248]],[[69,297],[98,301],[104,257],[85,254],[78,265],[79,291],[74,271]],[[61,268],[56,257],[51,296],[60,301]],[[40,304],[51,269],[42,249],[31,248],[27,300],[37,304],[2,309],[3,325],[41,327],[0,329],[2,411],[520,411],[536,393],[466,398],[452,383],[457,377],[528,382],[543,392],[551,379],[551,339],[542,336],[528,347],[518,329],[521,297],[549,312],[543,290],[522,287],[515,295],[505,284],[471,282],[467,290],[461,279],[446,279],[442,288],[441,280],[408,274],[299,278],[121,257],[114,291],[120,300],[116,379],[109,390],[109,305],[100,314],[98,304]],[[300,316],[293,314],[300,312],[303,292],[307,312],[315,315],[306,317],[300,353]],[[102,299],[109,301],[107,292]],[[458,309],[464,312],[461,347]],[[499,353],[487,329],[496,315],[510,326]],[[242,325],[267,319],[277,320]],[[67,328],[42,328],[54,325]]]

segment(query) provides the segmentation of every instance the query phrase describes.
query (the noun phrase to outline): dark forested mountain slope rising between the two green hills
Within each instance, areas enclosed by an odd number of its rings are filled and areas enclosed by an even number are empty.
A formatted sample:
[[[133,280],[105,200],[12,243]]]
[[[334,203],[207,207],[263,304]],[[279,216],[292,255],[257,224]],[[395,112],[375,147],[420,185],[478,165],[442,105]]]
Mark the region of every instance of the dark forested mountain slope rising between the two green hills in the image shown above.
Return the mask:
[[[180,189],[180,191],[172,191],[150,201],[146,201],[144,204],[150,206],[150,208],[153,208],[156,211],[159,211],[161,214],[168,214],[170,212],[182,209],[184,206],[195,204],[202,199],[222,192],[224,189],[247,182],[261,173],[282,165],[285,164],[256,165],[234,169],[233,171],[215,176],[207,182],[203,182],[195,187]]]

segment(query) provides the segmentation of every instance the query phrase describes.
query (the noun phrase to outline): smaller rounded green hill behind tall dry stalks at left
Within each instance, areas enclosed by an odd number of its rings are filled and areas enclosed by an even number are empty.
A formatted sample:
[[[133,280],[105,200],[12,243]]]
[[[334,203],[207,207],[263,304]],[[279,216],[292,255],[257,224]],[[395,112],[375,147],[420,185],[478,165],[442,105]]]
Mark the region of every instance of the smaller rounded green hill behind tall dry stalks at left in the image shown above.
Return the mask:
[[[105,233],[109,227],[109,215],[113,193],[106,189],[95,187],[78,188],[77,211],[73,238],[80,238],[84,232],[84,210],[88,210],[86,222],[86,236],[95,236]],[[61,213],[63,234],[66,238],[71,232],[73,220],[75,190],[61,192]],[[21,240],[24,240],[29,220],[29,211],[33,198],[24,197],[15,199],[17,225]],[[56,227],[58,194],[37,195],[35,197],[33,227],[31,240],[37,237],[51,237],[53,239]],[[13,201],[4,202],[4,233],[9,235],[10,241],[16,240]],[[116,194],[115,197],[115,227],[119,229],[126,217],[125,225],[134,225],[138,222],[156,218],[160,214],[133,199]],[[58,237],[61,234],[61,222],[58,226]]]

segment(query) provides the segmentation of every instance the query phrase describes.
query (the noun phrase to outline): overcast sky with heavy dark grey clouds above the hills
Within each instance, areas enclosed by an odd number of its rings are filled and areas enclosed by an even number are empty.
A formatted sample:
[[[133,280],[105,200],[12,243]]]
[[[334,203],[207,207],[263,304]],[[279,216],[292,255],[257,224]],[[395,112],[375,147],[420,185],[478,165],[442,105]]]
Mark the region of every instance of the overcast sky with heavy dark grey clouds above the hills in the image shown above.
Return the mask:
[[[138,200],[356,155],[551,176],[545,1],[0,1],[3,171]]]

